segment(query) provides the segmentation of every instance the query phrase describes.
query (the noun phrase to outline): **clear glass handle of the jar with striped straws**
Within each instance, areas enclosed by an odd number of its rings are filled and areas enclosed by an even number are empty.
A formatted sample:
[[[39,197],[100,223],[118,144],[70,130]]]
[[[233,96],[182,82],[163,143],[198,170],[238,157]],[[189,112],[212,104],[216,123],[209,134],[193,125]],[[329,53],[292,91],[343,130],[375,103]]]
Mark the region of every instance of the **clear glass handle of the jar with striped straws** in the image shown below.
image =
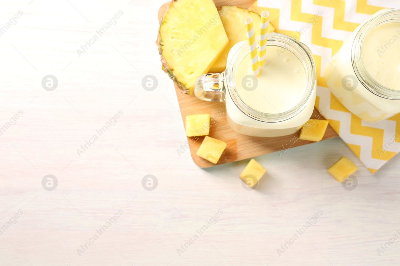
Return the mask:
[[[225,73],[204,74],[196,79],[194,95],[200,100],[225,102]]]

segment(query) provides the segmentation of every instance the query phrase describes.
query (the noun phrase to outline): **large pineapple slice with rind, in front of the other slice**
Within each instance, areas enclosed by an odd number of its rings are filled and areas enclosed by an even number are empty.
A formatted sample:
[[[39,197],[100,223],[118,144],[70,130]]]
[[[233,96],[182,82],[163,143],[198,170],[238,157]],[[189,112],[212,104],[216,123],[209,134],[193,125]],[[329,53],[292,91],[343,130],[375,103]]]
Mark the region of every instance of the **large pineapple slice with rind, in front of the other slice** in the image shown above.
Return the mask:
[[[157,38],[162,68],[182,91],[191,94],[198,76],[207,73],[228,45],[212,0],[174,0]]]

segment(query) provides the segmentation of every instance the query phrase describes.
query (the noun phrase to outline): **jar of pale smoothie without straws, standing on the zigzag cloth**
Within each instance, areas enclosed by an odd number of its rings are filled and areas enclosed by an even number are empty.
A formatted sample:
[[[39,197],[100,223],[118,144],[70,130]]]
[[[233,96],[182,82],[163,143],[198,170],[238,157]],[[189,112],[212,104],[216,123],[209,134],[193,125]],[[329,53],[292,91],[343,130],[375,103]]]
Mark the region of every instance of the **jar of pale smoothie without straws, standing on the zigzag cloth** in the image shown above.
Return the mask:
[[[325,70],[328,88],[350,112],[379,122],[400,112],[400,10],[360,24]]]

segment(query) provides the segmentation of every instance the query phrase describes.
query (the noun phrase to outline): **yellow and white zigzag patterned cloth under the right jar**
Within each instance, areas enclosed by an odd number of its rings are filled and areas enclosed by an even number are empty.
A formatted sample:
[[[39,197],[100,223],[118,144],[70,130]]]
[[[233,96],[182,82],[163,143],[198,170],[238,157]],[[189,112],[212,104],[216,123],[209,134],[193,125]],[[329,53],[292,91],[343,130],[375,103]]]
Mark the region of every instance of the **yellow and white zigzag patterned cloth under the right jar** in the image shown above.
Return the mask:
[[[330,92],[324,72],[350,33],[384,8],[400,9],[400,1],[258,0],[249,8],[258,14],[267,10],[276,32],[310,47],[317,71],[315,107],[371,173],[400,152],[400,114],[375,123],[358,118]]]

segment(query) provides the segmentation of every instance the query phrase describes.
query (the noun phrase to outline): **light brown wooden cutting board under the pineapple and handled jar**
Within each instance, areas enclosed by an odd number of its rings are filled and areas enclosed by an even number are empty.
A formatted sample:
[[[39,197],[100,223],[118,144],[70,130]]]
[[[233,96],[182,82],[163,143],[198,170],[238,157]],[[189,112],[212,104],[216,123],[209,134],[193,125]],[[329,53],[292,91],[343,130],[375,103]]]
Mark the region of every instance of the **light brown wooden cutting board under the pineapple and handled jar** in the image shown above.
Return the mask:
[[[221,7],[224,5],[236,5],[243,8],[250,7],[255,1],[254,0],[214,0],[216,7]],[[158,20],[161,21],[166,8],[168,8],[169,3],[163,4],[158,10]],[[167,74],[166,74],[167,75]],[[211,114],[210,124],[210,134],[208,136],[222,140],[226,142],[227,146],[221,156],[218,164],[232,163],[235,161],[240,161],[248,158],[253,158],[262,154],[268,154],[271,152],[285,152],[288,148],[293,148],[305,144],[311,143],[311,141],[306,140],[296,140],[296,136],[299,136],[299,132],[293,135],[274,137],[274,138],[261,138],[252,137],[239,134],[230,128],[228,121],[226,120],[226,108],[225,104],[222,102],[207,102],[204,100],[199,100],[192,95],[182,94],[181,90],[175,86],[176,96],[178,97],[180,112],[182,114],[183,125],[185,124],[185,116],[188,114]],[[311,118],[320,118],[318,110],[314,108],[314,112]],[[182,127],[184,130],[184,126]],[[337,137],[338,135],[332,129],[330,125],[326,129],[324,138],[326,140],[329,138]],[[203,158],[196,155],[200,144],[202,143],[204,136],[202,137],[187,137],[188,142],[186,145],[182,145],[180,150],[186,152],[190,149],[190,154],[192,155],[193,161],[200,167],[211,167],[215,166]],[[295,141],[296,140],[296,141]]]

